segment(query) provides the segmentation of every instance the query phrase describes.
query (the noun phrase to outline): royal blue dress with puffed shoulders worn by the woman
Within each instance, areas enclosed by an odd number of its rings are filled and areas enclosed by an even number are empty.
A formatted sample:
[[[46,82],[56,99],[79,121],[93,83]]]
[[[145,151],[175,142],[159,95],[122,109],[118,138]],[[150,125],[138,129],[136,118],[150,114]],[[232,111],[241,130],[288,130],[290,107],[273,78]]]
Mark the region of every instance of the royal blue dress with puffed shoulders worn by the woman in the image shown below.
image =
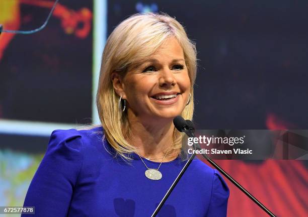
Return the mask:
[[[130,164],[114,158],[102,136],[102,127],[52,132],[24,202],[35,206],[34,216],[151,216],[185,162],[162,163],[162,179],[149,180],[137,154]],[[160,164],[144,162],[149,168]],[[196,158],[157,216],[226,216],[228,196],[218,171]]]

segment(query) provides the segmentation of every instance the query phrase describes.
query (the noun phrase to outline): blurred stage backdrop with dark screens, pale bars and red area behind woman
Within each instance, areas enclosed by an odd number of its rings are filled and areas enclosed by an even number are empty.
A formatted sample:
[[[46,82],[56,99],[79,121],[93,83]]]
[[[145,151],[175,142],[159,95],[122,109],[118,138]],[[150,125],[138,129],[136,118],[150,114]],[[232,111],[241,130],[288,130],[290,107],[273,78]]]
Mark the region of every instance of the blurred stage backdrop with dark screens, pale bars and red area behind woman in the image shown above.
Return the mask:
[[[36,29],[53,4],[2,0],[0,24]],[[308,129],[307,1],[60,0],[42,31],[0,35],[0,206],[22,206],[53,130],[99,124],[100,59],[115,26],[160,11],[196,42],[198,129]],[[308,216],[307,161],[217,162],[278,216]],[[228,216],[266,216],[227,184]]]

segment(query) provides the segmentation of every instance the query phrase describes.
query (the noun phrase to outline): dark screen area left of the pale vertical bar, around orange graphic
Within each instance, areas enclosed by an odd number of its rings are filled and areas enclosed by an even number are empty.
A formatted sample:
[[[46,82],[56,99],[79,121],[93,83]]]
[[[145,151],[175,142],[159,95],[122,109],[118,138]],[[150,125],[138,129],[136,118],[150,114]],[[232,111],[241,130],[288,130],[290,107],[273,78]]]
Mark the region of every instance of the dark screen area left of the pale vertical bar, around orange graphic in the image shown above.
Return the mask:
[[[78,13],[92,1],[59,1]],[[41,26],[50,8],[20,4],[20,30]],[[63,13],[64,13],[63,12]],[[15,35],[0,60],[0,118],[85,124],[92,117],[92,30],[86,38],[67,33],[52,16],[46,28]],[[72,22],[72,19],[66,22]],[[78,25],[82,28],[82,22]],[[1,36],[0,36],[1,37]]]

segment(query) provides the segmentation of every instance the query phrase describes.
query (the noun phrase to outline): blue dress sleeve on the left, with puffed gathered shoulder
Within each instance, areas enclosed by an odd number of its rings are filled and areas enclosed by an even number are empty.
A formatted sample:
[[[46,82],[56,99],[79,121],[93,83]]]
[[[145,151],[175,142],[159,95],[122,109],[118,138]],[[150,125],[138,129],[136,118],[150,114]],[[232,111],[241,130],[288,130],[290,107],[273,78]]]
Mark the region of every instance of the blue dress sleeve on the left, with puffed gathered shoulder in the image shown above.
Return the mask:
[[[82,163],[79,132],[53,131],[24,202],[24,206],[35,206],[35,215],[21,216],[66,216]]]

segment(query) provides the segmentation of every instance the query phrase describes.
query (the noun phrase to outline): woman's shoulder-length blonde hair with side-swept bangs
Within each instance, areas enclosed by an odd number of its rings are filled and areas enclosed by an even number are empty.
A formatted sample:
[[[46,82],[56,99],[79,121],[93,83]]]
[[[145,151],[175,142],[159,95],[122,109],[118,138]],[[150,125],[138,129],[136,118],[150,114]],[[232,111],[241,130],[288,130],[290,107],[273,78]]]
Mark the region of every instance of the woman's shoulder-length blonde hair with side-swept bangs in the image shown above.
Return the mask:
[[[193,85],[196,78],[197,59],[194,42],[188,39],[183,26],[167,14],[135,14],[121,22],[108,37],[102,57],[96,104],[104,135],[116,154],[129,160],[126,154],[137,149],[129,144],[130,127],[127,112],[118,108],[119,98],[113,89],[111,73],[124,76],[129,66],[141,63],[162,45],[167,37],[175,37],[184,51],[191,82],[191,101],[182,112],[182,117],[192,119],[194,111]],[[146,48],[146,49],[145,49]],[[127,111],[127,110],[126,110]],[[181,148],[182,135],[173,133],[173,149]],[[182,156],[184,160],[185,157]]]

